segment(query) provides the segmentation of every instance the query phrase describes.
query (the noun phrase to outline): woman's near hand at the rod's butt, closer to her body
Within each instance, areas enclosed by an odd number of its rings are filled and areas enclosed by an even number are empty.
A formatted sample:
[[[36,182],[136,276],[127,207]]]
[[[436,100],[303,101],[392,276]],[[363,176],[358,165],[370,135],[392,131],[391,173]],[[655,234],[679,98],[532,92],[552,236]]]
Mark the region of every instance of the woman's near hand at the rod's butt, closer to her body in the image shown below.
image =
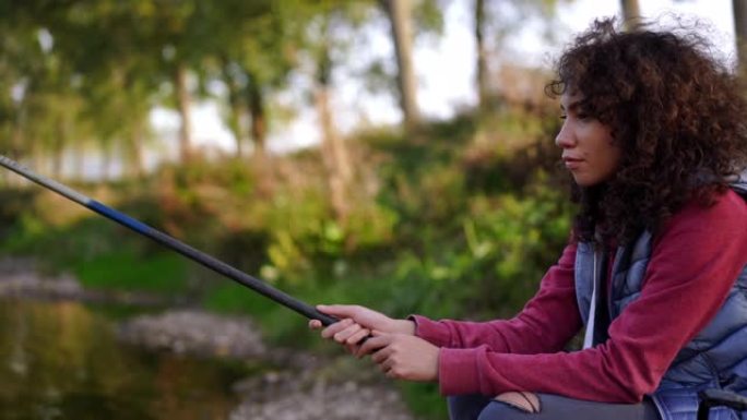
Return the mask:
[[[389,377],[418,382],[438,379],[439,349],[423,338],[375,331],[360,346],[357,356],[369,352],[374,352],[371,360]]]

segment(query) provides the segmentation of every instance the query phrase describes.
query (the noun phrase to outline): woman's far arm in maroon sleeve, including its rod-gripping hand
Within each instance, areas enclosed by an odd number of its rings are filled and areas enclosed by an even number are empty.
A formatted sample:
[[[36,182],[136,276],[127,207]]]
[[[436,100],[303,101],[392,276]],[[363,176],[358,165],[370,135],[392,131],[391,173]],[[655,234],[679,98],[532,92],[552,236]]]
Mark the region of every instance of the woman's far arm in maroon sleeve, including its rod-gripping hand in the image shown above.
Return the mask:
[[[320,305],[321,312],[342,321],[322,331],[323,338],[334,339],[360,356],[357,345],[371,331],[416,334],[437,347],[471,348],[487,345],[493,351],[536,353],[559,351],[581,328],[576,303],[573,263],[576,245],[569,244],[558,263],[542,279],[540,291],[511,320],[490,322],[431,321],[413,315],[410,320],[390,319],[359,305]],[[496,290],[500,293],[500,290]],[[311,321],[312,329],[321,323]]]

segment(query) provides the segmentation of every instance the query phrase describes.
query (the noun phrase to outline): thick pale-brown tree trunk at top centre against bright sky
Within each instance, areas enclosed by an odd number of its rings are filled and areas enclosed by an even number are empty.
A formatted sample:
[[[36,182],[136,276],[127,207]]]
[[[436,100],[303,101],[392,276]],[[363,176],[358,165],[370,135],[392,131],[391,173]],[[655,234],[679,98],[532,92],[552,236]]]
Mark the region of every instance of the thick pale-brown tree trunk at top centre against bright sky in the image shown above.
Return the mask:
[[[405,130],[412,133],[420,122],[413,67],[412,3],[411,0],[384,0],[384,5],[392,24],[392,38],[396,52],[400,106]]]

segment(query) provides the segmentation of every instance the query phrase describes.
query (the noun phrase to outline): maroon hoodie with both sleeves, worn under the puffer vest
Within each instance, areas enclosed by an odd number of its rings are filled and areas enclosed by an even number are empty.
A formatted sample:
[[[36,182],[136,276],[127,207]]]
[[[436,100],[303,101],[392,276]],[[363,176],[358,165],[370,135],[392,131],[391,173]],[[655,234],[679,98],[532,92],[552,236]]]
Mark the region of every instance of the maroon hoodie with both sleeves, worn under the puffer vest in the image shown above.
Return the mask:
[[[640,401],[656,389],[677,351],[715,315],[747,265],[747,203],[728,191],[711,207],[690,203],[675,214],[654,239],[640,297],[612,322],[609,339],[566,352],[582,327],[574,260],[571,243],[511,320],[413,316],[416,334],[441,347],[442,394],[532,391]]]

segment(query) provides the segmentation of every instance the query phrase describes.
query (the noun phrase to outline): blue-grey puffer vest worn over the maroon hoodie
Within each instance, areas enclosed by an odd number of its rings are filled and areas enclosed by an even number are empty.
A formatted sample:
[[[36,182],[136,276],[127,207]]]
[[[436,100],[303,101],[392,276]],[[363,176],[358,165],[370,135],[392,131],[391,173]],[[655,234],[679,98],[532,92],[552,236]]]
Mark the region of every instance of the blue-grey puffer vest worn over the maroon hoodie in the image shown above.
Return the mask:
[[[747,172],[732,188],[747,200]],[[609,320],[640,296],[652,242],[645,231],[631,244],[617,249],[607,301]],[[603,257],[596,253],[591,243],[579,243],[576,253],[576,296],[586,326],[596,260]],[[715,317],[677,353],[651,397],[663,420],[696,420],[698,392],[707,388],[747,395],[747,266]],[[712,409],[710,419],[747,420],[747,413],[722,407]]]

